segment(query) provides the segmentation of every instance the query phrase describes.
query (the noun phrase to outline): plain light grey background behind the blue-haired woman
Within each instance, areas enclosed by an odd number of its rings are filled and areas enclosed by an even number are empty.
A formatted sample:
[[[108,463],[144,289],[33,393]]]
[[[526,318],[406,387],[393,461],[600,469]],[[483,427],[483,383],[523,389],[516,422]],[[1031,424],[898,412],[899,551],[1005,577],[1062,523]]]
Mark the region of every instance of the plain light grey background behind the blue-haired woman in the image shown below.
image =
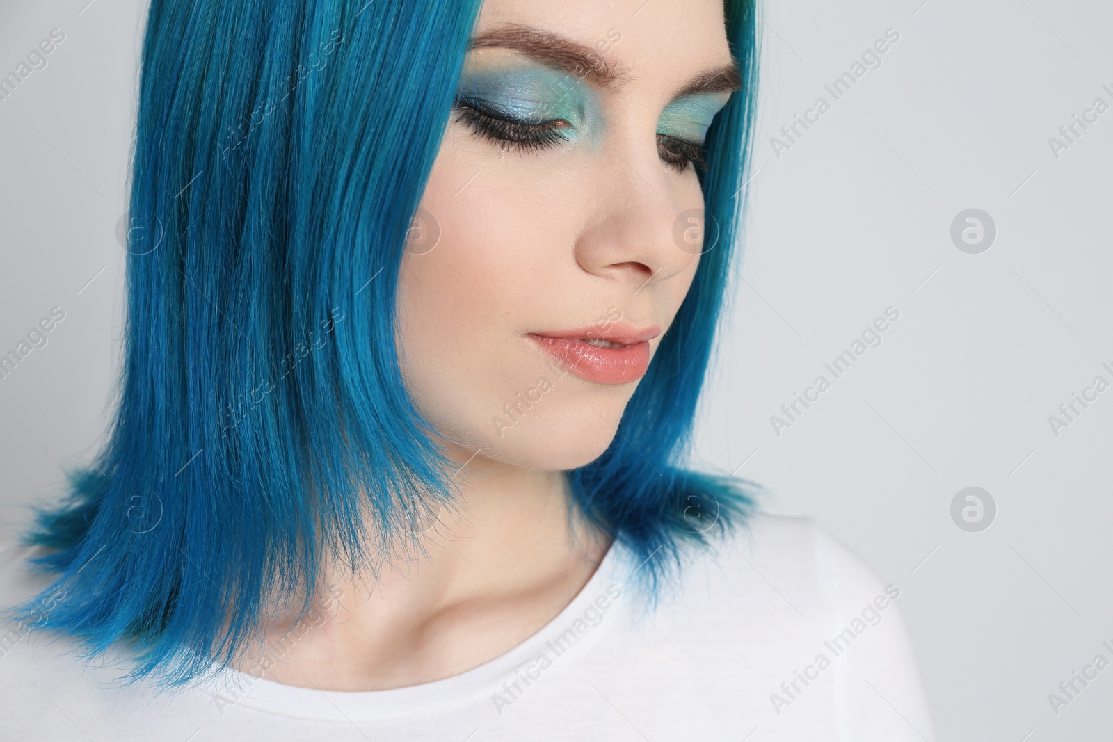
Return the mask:
[[[66,33],[0,101],[0,355],[66,311],[0,380],[6,541],[102,443],[116,373],[145,3],[87,3],[0,7],[0,73]],[[1113,659],[1113,389],[1058,436],[1048,416],[1113,382],[1113,110],[1057,158],[1048,138],[1113,105],[1113,10],[920,3],[766,2],[747,257],[698,453],[900,587],[940,740],[1094,739],[1113,729],[1113,667],[1057,715],[1047,696]],[[881,66],[833,100],[824,86],[890,28]],[[778,157],[770,138],[820,96],[830,110]],[[978,255],[951,238],[968,208],[997,227]],[[824,364],[889,306],[881,345],[835,379]],[[831,387],[777,435],[770,416],[820,374]],[[982,532],[951,516],[967,486],[996,502]]]

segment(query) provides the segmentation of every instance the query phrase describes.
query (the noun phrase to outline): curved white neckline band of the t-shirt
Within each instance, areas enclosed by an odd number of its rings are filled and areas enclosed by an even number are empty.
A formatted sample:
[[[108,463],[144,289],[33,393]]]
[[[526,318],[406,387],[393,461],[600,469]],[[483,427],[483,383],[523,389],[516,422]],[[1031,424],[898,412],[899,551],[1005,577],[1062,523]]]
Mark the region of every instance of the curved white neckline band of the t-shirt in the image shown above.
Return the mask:
[[[243,706],[280,716],[321,721],[387,721],[426,715],[459,709],[500,692],[516,670],[546,652],[556,634],[581,620],[585,611],[597,605],[608,587],[622,584],[619,554],[621,545],[611,544],[594,574],[575,597],[544,626],[521,644],[476,667],[442,680],[383,691],[323,691],[314,687],[285,685],[236,670],[225,669],[216,680],[199,684],[216,696],[215,702],[226,713],[232,706]],[[627,592],[623,585],[622,594]],[[611,593],[613,595],[613,593]],[[598,613],[598,609],[595,609]],[[605,614],[603,614],[605,615]],[[600,616],[600,623],[605,624]],[[611,624],[614,622],[611,621]],[[598,633],[598,630],[593,630]],[[579,642],[578,642],[579,644]]]

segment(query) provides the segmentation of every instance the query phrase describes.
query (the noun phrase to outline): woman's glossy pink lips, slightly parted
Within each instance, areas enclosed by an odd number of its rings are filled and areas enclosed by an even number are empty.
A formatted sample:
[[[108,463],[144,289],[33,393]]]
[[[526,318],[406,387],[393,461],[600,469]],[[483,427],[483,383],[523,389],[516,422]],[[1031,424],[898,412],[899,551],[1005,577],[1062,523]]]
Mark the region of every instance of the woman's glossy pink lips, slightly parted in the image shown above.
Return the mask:
[[[649,340],[660,334],[656,325],[633,327],[613,323],[605,332],[591,326],[530,333],[529,337],[580,378],[597,384],[629,384],[646,375]],[[600,347],[588,339],[610,340],[624,347]]]

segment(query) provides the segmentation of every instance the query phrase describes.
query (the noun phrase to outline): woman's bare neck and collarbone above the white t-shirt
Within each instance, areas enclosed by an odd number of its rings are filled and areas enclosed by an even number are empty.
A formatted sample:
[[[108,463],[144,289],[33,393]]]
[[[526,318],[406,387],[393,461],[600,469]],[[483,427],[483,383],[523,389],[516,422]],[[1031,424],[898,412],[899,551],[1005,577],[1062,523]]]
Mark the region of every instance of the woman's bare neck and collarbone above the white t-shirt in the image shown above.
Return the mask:
[[[479,666],[555,617],[610,546],[570,518],[563,473],[474,456],[456,479],[457,507],[421,521],[424,554],[326,575],[312,627],[275,624],[266,653],[238,669],[321,690],[403,687]]]

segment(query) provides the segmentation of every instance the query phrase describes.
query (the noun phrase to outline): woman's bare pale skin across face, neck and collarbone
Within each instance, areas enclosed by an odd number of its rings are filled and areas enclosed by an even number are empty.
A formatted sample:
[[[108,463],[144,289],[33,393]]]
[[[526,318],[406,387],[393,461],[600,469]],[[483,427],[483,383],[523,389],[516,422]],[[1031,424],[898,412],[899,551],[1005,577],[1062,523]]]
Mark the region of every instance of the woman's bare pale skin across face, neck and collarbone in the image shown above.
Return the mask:
[[[329,620],[268,680],[374,691],[457,675],[555,617],[611,545],[579,521],[570,531],[562,472],[605,451],[637,382],[556,378],[523,334],[615,311],[662,334],[671,324],[699,261],[678,247],[674,222],[703,197],[693,167],[662,159],[657,132],[678,91],[732,63],[722,0],[486,0],[477,32],[508,27],[578,42],[623,76],[591,87],[605,126],[582,140],[521,151],[457,120],[445,131],[422,200],[441,238],[403,260],[398,340],[418,408],[454,442],[453,472],[466,464],[454,478],[464,516],[442,511],[429,557],[395,563],[377,581],[328,575],[339,595]],[[496,47],[470,55],[525,60]],[[716,95],[725,103],[729,92]],[[509,429],[493,424],[545,374],[554,383],[541,403]]]

